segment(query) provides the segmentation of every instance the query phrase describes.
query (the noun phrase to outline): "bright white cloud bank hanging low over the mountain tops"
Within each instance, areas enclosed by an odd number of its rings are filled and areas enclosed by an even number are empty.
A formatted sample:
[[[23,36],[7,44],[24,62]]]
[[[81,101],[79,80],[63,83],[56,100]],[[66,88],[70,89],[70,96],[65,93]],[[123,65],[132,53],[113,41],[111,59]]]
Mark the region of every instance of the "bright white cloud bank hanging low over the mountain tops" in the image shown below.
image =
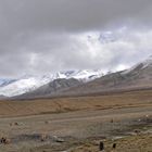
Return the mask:
[[[124,69],[152,54],[151,39],[152,29],[127,27],[109,31],[25,35],[21,46],[13,42],[9,46],[13,54],[1,54],[0,64],[5,63],[0,66],[1,76],[75,68]]]

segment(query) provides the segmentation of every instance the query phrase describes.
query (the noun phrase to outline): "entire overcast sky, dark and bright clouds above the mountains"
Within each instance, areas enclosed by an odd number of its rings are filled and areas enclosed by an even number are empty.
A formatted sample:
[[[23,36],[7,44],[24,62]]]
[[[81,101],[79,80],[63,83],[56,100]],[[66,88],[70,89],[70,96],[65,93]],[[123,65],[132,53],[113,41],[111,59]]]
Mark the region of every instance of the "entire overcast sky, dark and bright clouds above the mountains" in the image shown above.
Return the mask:
[[[0,77],[121,71],[152,55],[152,0],[0,0]]]

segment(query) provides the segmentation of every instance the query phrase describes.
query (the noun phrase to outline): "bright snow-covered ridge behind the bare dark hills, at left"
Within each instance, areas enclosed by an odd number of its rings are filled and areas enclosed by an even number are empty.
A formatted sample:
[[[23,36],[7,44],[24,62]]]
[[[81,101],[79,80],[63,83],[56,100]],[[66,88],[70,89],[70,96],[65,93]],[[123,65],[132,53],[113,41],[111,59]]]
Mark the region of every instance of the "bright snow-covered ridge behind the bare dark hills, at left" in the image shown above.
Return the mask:
[[[8,85],[0,87],[0,94],[5,97],[14,97],[33,91],[54,79],[75,78],[81,81],[90,81],[103,75],[102,71],[65,71],[43,76],[24,76],[17,80],[10,81]]]

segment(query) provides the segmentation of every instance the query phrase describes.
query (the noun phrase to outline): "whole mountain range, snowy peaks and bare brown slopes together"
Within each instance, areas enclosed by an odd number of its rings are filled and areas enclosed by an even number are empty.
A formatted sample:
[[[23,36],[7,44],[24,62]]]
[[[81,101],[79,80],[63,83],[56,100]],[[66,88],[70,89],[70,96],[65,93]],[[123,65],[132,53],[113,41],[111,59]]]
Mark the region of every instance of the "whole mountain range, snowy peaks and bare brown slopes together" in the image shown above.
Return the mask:
[[[41,77],[26,76],[1,85],[0,94],[15,98],[49,98],[147,88],[152,88],[152,56],[128,69],[105,75],[97,69],[66,71]]]

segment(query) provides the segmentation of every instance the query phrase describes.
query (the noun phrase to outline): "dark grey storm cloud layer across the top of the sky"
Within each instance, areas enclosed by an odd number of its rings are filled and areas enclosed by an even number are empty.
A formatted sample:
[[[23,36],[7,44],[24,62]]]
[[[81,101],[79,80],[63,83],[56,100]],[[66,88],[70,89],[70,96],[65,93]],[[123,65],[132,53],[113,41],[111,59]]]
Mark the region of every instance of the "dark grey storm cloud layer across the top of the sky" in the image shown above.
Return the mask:
[[[151,22],[150,0],[1,0],[2,25],[15,30],[92,30],[115,21]],[[8,25],[8,23],[11,23]]]

